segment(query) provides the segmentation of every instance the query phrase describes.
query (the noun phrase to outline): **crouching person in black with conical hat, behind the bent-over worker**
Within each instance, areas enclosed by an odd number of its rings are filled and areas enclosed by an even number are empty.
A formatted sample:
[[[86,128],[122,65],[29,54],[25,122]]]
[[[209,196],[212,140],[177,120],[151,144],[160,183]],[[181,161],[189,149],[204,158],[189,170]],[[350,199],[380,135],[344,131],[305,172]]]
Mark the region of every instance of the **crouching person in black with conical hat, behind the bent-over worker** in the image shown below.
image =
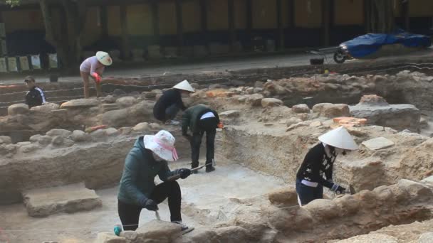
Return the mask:
[[[182,94],[189,95],[194,92],[194,88],[189,85],[187,80],[179,82],[170,90],[165,91],[153,107],[153,115],[157,120],[163,121],[169,125],[177,125],[179,121],[174,121],[177,112],[180,109],[187,109],[182,102]]]

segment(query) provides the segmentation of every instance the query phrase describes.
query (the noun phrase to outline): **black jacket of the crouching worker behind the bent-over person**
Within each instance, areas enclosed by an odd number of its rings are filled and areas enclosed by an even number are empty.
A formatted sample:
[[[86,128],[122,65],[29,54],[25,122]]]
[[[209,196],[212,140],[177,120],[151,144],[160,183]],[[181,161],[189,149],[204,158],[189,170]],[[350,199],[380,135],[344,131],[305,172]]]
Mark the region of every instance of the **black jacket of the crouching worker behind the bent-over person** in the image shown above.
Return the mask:
[[[182,95],[180,90],[170,89],[165,91],[160,99],[158,99],[155,107],[153,107],[153,115],[156,119],[162,121],[165,120],[165,109],[172,106],[172,104],[177,104],[179,109],[185,110],[184,102],[182,102]]]

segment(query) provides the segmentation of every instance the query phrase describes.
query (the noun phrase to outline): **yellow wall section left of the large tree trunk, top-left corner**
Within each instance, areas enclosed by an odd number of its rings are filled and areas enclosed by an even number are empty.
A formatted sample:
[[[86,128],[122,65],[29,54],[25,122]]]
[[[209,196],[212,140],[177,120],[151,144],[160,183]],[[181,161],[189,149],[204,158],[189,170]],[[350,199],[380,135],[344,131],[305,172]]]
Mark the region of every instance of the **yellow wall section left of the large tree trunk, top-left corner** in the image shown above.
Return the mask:
[[[43,31],[42,13],[39,10],[20,10],[1,12],[6,26],[6,33],[18,30]]]

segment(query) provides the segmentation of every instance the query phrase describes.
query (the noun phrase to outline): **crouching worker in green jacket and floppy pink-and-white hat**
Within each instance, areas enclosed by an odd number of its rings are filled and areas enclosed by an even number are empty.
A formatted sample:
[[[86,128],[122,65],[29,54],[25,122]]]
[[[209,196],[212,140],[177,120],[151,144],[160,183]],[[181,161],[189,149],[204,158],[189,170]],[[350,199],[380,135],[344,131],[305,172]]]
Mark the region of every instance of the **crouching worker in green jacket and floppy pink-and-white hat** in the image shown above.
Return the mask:
[[[182,233],[194,229],[182,223],[179,184],[167,180],[172,175],[179,174],[184,179],[191,174],[187,168],[170,171],[167,161],[177,160],[174,141],[172,134],[162,130],[155,136],[140,136],[128,153],[118,193],[118,212],[124,230],[137,229],[141,210],[157,211],[158,204],[166,198],[171,222],[179,224]],[[163,183],[155,185],[156,175]]]

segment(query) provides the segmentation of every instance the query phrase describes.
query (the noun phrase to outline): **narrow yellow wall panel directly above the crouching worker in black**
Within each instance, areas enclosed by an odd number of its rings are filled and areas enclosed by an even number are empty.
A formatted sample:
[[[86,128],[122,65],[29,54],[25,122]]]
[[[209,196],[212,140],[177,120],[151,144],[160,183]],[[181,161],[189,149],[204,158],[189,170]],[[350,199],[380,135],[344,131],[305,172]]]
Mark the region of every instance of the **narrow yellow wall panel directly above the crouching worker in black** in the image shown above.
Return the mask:
[[[160,34],[175,35],[177,33],[176,6],[172,1],[158,3],[160,17]]]

